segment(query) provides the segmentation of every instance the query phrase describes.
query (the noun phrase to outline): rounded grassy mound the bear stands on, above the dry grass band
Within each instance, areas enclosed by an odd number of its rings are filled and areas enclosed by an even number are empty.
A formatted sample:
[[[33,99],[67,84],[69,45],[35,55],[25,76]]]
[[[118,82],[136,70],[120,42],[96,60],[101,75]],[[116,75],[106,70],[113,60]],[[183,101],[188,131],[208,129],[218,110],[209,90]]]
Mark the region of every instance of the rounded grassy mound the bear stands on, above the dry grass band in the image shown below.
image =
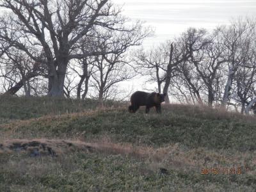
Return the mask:
[[[126,108],[42,116],[0,125],[10,138],[84,138],[108,136],[116,142],[154,147],[182,143],[189,148],[256,149],[256,119],[198,106],[164,106],[162,115]],[[1,138],[1,136],[0,136]]]

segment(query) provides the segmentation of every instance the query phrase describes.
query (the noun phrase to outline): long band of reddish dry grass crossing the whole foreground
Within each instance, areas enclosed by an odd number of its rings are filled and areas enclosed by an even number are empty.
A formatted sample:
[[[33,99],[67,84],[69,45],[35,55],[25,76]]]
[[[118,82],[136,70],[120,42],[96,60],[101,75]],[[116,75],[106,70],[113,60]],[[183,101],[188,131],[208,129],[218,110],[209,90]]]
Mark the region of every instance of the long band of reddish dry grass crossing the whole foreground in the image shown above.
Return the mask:
[[[23,152],[31,156],[63,156],[70,152],[100,153],[105,155],[122,155],[150,162],[152,168],[166,167],[184,172],[200,172],[202,168],[241,167],[243,173],[256,175],[256,152],[236,152],[230,150],[209,150],[207,148],[188,149],[176,143],[168,147],[153,148],[136,146],[131,143],[115,143],[109,138],[99,141],[81,140],[5,140],[0,143],[0,153]],[[33,155],[35,156],[35,154]]]

